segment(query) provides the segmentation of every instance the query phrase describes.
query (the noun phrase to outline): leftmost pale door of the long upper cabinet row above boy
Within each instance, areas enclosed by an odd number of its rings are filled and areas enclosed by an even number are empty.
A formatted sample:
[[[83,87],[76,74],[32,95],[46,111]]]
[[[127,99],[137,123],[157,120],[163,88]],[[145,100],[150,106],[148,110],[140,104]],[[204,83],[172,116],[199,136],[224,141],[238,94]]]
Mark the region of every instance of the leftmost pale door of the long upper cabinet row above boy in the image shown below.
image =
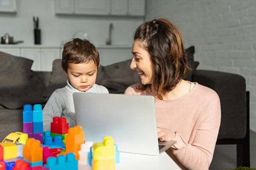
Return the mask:
[[[55,14],[74,14],[75,0],[55,0]]]

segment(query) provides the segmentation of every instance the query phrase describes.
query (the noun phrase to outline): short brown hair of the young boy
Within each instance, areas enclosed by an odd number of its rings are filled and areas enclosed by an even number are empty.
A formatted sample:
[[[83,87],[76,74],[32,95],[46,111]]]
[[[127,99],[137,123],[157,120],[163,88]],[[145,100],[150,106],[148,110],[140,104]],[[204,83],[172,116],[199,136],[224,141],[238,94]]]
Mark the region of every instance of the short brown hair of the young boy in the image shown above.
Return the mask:
[[[91,60],[98,68],[99,52],[89,40],[75,38],[64,44],[61,66],[66,73],[70,63],[89,63]]]

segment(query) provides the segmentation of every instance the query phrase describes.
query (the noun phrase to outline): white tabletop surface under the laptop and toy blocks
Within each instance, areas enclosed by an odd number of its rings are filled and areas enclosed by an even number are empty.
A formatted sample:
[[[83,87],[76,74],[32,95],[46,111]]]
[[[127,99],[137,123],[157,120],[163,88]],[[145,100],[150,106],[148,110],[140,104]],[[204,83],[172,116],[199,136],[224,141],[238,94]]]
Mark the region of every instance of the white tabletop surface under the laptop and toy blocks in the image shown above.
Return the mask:
[[[79,170],[91,170],[90,166],[80,166]],[[163,152],[159,156],[148,156],[120,152],[120,163],[116,170],[181,170],[180,167]]]

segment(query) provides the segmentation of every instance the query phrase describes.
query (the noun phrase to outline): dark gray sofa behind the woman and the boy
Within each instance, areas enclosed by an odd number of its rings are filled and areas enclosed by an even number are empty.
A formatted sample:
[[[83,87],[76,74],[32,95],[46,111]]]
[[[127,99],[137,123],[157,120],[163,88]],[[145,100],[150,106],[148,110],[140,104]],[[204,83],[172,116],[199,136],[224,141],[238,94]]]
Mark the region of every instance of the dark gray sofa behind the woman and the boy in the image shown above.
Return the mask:
[[[190,55],[194,53],[192,48]],[[17,61],[17,58],[21,59]],[[53,62],[52,72],[31,71],[32,62],[22,57],[0,52],[0,59],[2,141],[9,133],[23,131],[23,105],[41,103],[44,107],[52,92],[65,86],[66,77],[60,59]],[[96,83],[104,85],[112,94],[124,93],[129,85],[139,81],[137,73],[130,69],[130,63],[131,60],[127,60],[100,66]],[[194,62],[193,57],[190,64],[195,70],[186,79],[212,88],[220,97],[221,127],[217,144],[237,144],[237,165],[250,167],[249,108],[244,77],[219,71],[197,70],[199,62]],[[25,67],[28,67],[27,71],[23,70]],[[26,82],[24,79],[27,79]],[[14,87],[10,87],[13,84]]]

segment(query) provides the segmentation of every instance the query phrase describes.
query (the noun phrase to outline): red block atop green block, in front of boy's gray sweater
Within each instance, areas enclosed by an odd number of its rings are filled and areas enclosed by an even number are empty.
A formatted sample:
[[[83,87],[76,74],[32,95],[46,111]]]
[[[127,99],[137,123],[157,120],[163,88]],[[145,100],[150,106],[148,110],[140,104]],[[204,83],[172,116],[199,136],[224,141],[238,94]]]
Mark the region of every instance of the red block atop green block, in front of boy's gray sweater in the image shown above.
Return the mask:
[[[51,133],[57,133],[60,135],[68,132],[68,123],[64,117],[54,117],[51,122]]]

